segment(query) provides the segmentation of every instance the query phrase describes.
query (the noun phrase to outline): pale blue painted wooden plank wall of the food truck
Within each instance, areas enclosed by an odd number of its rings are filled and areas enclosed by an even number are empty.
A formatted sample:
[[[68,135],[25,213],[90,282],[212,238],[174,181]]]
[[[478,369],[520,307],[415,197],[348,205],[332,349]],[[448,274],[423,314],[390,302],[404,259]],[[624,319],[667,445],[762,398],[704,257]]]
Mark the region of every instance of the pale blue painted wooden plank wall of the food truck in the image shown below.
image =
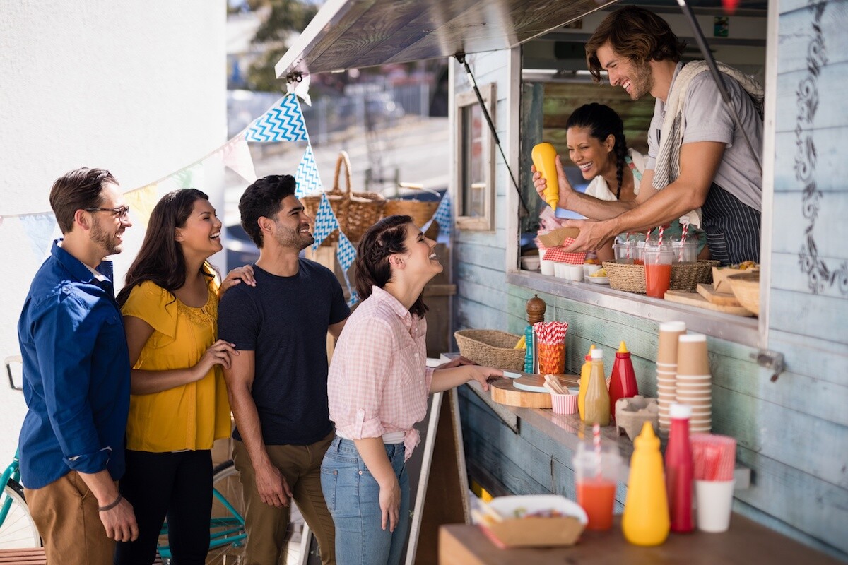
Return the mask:
[[[767,346],[784,354],[787,370],[771,382],[752,360],[755,349],[710,338],[713,429],[739,441],[739,462],[752,469],[750,489],[736,493],[738,512],[848,560],[848,2],[784,2],[779,12],[774,229],[763,237],[773,248]],[[488,77],[479,82],[505,77],[505,54],[478,57]],[[499,114],[505,93],[499,88]],[[502,126],[499,135],[510,139]],[[456,326],[521,333],[533,291],[505,281],[507,185],[499,171],[498,229],[458,234]],[[547,319],[570,324],[567,370],[578,371],[590,343],[604,347],[611,366],[625,340],[640,390],[656,394],[655,323],[540,296]],[[464,398],[468,457],[494,465],[516,494],[572,496],[570,454],[527,426],[514,434]]]

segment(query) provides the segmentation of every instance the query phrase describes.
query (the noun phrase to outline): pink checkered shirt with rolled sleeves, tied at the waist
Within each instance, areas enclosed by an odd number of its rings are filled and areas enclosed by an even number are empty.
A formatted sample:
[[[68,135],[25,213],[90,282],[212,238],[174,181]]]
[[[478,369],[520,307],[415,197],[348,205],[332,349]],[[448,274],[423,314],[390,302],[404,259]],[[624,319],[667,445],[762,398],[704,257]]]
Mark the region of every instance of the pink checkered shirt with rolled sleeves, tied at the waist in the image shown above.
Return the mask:
[[[427,415],[427,320],[377,286],[350,315],[327,376],[330,419],[352,440],[404,432],[408,459]]]

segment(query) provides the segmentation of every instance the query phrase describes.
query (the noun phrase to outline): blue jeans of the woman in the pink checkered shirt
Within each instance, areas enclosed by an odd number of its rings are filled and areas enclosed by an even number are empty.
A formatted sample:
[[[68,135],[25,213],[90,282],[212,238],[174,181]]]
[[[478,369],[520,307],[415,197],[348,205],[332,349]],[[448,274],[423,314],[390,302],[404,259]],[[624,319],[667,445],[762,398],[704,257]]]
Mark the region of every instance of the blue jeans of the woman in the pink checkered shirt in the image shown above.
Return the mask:
[[[400,485],[399,521],[382,529],[380,485],[365,467],[354,442],[337,437],[321,464],[321,490],[336,523],[337,565],[397,565],[410,531],[410,478],[404,444],[388,444],[386,455]]]

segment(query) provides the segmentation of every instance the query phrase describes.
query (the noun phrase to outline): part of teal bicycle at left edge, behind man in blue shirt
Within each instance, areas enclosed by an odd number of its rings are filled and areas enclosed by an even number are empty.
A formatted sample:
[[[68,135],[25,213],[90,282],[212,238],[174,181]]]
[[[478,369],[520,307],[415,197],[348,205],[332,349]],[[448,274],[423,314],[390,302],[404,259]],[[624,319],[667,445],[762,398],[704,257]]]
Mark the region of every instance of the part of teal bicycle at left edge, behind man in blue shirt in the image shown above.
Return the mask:
[[[12,363],[22,363],[20,355],[6,357],[3,363],[6,365],[8,385],[13,390],[20,391],[20,386],[14,383],[11,368]],[[42,536],[38,534],[36,523],[32,520],[29,507],[26,506],[24,487],[20,485],[17,450],[14,452],[12,463],[9,463],[0,476],[0,485],[3,485],[3,495],[0,496],[0,549],[41,547]]]

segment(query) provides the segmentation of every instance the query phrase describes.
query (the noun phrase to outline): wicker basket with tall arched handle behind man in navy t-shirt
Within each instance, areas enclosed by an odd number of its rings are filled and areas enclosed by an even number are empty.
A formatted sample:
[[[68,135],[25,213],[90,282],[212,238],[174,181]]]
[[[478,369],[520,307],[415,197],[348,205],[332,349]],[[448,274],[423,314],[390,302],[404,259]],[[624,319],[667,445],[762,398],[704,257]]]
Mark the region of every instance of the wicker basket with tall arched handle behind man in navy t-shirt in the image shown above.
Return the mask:
[[[344,164],[344,191],[339,187],[338,177]],[[347,152],[340,152],[336,160],[336,174],[332,180],[332,191],[326,192],[332,212],[336,214],[339,228],[352,242],[360,241],[365,231],[382,218],[386,199],[376,192],[354,192],[350,188],[350,158]],[[302,197],[306,213],[313,219],[321,206],[321,195]],[[333,230],[321,246],[332,246],[338,241],[338,230]]]

